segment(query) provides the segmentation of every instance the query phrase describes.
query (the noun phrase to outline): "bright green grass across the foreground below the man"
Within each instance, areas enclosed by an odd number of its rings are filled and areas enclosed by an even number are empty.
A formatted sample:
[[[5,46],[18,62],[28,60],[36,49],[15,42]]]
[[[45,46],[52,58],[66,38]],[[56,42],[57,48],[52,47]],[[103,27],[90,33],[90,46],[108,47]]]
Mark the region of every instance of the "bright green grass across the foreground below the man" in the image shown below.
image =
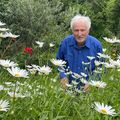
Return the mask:
[[[119,120],[120,119],[120,75],[116,70],[108,70],[102,77],[107,83],[105,88],[92,87],[89,93],[71,95],[60,88],[57,74],[30,75],[30,78],[15,78],[10,76],[5,69],[0,71],[1,85],[7,90],[0,91],[0,98],[9,101],[9,110],[1,112],[1,119],[21,120]],[[107,78],[107,79],[106,79]],[[53,82],[52,80],[55,79]],[[26,97],[10,97],[8,92],[15,89]],[[11,82],[6,85],[5,82]],[[116,116],[107,116],[94,109],[94,102],[111,105]]]

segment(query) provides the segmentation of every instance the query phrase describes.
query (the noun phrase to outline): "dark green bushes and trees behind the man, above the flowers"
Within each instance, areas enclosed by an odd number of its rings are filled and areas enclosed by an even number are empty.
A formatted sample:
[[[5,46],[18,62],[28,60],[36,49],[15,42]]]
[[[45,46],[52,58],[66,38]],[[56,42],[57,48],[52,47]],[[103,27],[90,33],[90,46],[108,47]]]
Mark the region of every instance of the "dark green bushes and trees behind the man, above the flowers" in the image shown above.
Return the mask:
[[[71,33],[70,20],[76,14],[92,20],[90,34],[102,38],[120,37],[119,0],[1,0],[0,20],[20,37],[17,48],[33,47],[34,42],[60,41]],[[6,44],[6,43],[3,43]],[[46,50],[46,47],[45,47]],[[13,49],[14,54],[18,50]],[[11,52],[10,52],[11,53]]]

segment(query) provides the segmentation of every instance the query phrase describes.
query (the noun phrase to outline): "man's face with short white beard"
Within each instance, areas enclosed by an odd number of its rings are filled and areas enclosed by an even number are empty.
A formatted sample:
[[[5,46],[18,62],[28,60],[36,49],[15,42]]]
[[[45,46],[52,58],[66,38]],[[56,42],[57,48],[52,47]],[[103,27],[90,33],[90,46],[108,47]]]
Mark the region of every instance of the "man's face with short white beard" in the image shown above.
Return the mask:
[[[89,34],[89,29],[85,21],[77,21],[73,25],[73,34],[78,42],[78,45],[83,45],[87,35]]]

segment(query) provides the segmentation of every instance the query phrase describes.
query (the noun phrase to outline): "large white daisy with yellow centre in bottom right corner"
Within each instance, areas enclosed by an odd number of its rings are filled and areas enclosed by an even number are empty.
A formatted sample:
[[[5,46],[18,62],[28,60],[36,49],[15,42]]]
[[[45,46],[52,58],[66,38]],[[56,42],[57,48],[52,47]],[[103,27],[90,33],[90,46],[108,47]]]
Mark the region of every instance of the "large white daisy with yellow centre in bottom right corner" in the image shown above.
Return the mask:
[[[114,116],[116,114],[115,110],[112,109],[111,106],[104,105],[103,103],[100,104],[99,102],[94,102],[94,104],[95,104],[95,110],[102,114],[111,115],[111,116]]]

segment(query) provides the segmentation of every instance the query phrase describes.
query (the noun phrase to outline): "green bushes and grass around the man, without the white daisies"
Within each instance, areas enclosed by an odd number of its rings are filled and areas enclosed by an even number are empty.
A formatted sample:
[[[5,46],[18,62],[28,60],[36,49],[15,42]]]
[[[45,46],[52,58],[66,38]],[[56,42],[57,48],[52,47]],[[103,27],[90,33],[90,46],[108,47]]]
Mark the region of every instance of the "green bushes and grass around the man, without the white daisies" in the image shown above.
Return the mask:
[[[49,65],[55,58],[60,41],[71,34],[70,20],[76,14],[91,18],[90,34],[97,37],[106,53],[116,59],[120,44],[108,45],[103,37],[120,38],[119,0],[0,0],[0,21],[16,35],[17,39],[0,38],[0,59],[17,62],[21,68],[26,64]],[[42,48],[35,41],[44,42]],[[54,47],[49,47],[54,43]],[[32,56],[23,55],[24,48],[33,50]],[[54,81],[55,80],[55,81]],[[11,106],[0,113],[5,120],[119,120],[120,119],[120,75],[110,70],[103,76],[105,90],[91,88],[91,94],[71,96],[59,85],[57,68],[48,76],[31,75],[28,80],[11,77],[0,67],[0,84],[19,81],[20,93],[29,93],[25,98],[11,98],[0,91],[0,98],[9,100]],[[14,86],[10,87],[11,91]],[[116,117],[102,116],[92,108],[94,101],[105,102],[117,110]]]

